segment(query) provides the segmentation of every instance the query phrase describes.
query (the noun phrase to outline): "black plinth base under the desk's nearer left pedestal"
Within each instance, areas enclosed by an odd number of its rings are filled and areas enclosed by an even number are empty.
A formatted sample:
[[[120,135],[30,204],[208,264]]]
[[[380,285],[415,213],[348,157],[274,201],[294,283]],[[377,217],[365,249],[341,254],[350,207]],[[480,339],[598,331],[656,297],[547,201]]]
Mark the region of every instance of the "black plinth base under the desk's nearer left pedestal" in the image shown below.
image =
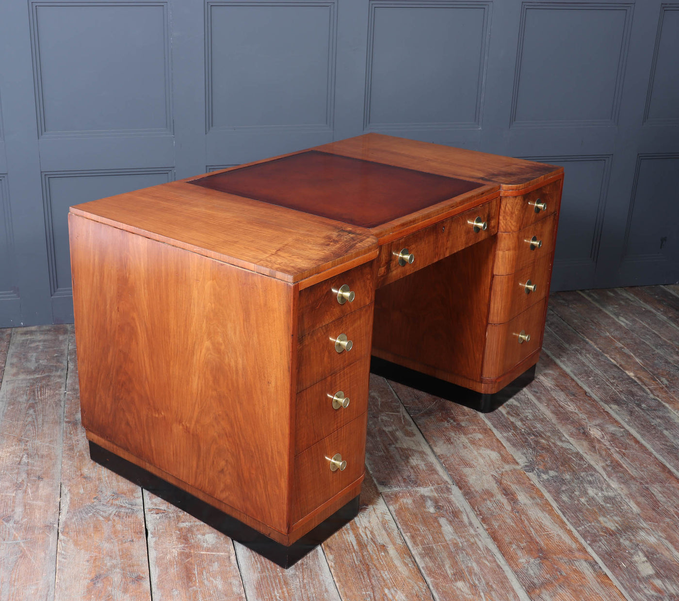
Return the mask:
[[[238,541],[242,545],[253,549],[261,556],[278,564],[282,568],[289,568],[301,558],[303,558],[314,547],[323,543],[344,524],[350,522],[359,513],[359,497],[354,497],[344,507],[340,507],[332,516],[318,524],[316,528],[308,532],[304,537],[286,547],[269,537],[257,532],[254,528],[243,524],[240,520],[232,518],[220,509],[205,503],[194,497],[194,495],[177,488],[174,484],[170,484],[162,478],[153,475],[151,472],[130,463],[122,457],[118,457],[105,448],[90,442],[90,457],[92,461],[96,461],[111,471],[115,471],[123,478],[127,478],[134,484],[145,488],[153,495],[161,497],[168,503],[172,503],[175,507],[179,507],[183,511],[190,513],[194,518],[198,518],[202,522],[212,526],[215,530],[219,530],[227,537]]]

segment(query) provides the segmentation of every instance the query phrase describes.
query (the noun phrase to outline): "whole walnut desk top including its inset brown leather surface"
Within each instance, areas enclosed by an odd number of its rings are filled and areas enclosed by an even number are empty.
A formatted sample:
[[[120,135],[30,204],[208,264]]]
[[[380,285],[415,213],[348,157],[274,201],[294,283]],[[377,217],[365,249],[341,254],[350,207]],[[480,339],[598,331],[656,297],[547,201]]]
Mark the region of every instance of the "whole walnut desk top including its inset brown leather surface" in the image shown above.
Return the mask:
[[[294,284],[364,263],[377,256],[380,244],[425,222],[478,206],[500,190],[520,194],[563,171],[380,134],[310,150],[314,152],[291,153],[198,179],[216,182],[227,173],[231,182],[243,183],[248,178],[239,176],[249,172],[274,174],[268,181],[250,178],[256,190],[209,189],[196,185],[194,177],[83,203],[71,207],[71,213]],[[342,158],[329,159],[331,155]],[[287,166],[308,159],[321,168],[324,162],[332,163],[331,178],[301,172],[297,192],[284,189],[285,178],[293,173]],[[352,172],[350,178],[347,172]],[[335,186],[333,177],[344,178],[344,188],[337,189],[330,203],[324,196],[325,203],[314,204],[318,195]],[[347,191],[362,204],[346,199],[340,204],[337,198]]]

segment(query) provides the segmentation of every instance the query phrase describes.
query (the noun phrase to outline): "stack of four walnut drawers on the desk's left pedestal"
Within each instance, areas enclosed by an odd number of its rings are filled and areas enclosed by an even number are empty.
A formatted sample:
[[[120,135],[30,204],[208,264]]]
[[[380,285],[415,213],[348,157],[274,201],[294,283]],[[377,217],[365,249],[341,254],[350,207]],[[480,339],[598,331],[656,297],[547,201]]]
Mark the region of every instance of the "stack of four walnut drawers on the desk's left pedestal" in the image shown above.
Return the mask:
[[[370,261],[299,293],[293,529],[363,480],[374,272]]]

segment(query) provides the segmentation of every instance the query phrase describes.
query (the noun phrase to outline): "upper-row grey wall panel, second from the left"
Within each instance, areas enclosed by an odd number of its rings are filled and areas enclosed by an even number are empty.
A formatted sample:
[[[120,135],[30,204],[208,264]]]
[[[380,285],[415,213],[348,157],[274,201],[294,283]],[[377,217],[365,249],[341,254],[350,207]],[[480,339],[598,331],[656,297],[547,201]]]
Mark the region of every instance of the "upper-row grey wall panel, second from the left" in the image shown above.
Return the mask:
[[[208,131],[331,129],[334,29],[334,3],[208,3]]]

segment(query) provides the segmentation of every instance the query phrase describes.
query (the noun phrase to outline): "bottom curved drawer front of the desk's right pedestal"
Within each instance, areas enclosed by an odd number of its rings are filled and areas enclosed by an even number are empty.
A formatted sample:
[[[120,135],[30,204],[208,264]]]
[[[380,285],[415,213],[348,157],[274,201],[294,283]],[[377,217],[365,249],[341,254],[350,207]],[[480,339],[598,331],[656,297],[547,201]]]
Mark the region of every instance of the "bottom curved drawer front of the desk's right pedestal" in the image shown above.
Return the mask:
[[[483,355],[484,378],[498,378],[540,348],[545,328],[545,299],[506,324],[489,324]],[[530,334],[521,343],[519,334]]]

